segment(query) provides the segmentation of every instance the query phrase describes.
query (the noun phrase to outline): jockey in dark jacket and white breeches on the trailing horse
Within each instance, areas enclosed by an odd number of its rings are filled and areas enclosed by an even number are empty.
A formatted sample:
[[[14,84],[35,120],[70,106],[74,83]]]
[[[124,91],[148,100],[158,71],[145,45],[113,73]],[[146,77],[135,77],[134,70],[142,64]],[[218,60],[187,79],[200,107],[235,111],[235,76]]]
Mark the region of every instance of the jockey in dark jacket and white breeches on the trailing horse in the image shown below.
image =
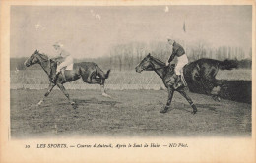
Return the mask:
[[[166,61],[166,66],[169,65],[169,63],[174,59],[174,57],[177,57],[177,64],[175,67],[175,83],[173,85],[174,88],[178,88],[179,82],[181,80],[181,74],[183,73],[183,67],[188,64],[188,58],[185,54],[184,48],[175,42],[175,40],[168,38],[168,43],[172,45],[172,54],[170,55],[169,59]]]

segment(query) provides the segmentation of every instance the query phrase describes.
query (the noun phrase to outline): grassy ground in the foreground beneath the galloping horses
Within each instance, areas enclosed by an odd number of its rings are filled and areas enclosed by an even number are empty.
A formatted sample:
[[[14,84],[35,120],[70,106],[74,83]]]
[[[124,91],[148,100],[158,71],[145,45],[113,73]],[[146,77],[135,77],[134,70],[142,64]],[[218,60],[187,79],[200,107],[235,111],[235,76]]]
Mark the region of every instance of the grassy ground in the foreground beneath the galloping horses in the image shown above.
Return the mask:
[[[161,114],[166,90],[68,90],[74,110],[59,90],[40,107],[46,90],[11,90],[11,137],[70,136],[251,136],[251,105],[189,93],[198,107],[192,115],[177,92],[170,110]]]

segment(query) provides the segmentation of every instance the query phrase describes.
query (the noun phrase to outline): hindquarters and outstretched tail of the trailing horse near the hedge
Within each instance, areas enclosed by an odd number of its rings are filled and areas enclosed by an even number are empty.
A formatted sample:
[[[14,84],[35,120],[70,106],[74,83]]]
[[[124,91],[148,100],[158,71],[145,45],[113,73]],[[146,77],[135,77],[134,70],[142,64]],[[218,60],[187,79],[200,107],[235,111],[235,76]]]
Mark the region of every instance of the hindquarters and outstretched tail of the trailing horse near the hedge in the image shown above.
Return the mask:
[[[220,102],[219,94],[224,81],[217,80],[216,75],[219,70],[231,70],[237,67],[238,62],[236,60],[219,61],[202,58],[187,64],[183,69],[183,75],[190,90],[202,86],[206,94]]]

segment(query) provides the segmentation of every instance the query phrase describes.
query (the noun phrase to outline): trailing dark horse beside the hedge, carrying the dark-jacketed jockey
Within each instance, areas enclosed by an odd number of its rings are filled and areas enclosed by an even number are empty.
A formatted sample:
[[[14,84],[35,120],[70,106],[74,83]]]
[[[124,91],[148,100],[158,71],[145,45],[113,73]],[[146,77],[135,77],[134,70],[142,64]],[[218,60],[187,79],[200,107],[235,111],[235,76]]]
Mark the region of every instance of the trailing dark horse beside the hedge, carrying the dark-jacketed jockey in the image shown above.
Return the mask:
[[[212,95],[218,95],[220,90],[217,90],[218,92],[213,92],[213,89],[215,89],[216,87],[222,84],[215,79],[215,76],[218,70],[231,69],[234,67],[237,67],[237,64],[229,60],[217,61],[213,59],[199,59],[195,62],[192,62],[186,65],[183,68],[183,72],[184,72],[183,74],[184,74],[185,80],[187,81],[188,86],[193,82],[202,81],[203,83],[211,84],[211,86],[207,86],[207,85],[205,86],[209,94],[212,93]],[[197,112],[197,108],[193,104],[193,101],[191,100],[191,98],[187,95],[185,91],[184,83],[182,81],[179,81],[181,82],[181,86],[179,86],[176,89],[173,88],[174,68],[175,68],[174,64],[171,66],[165,66],[165,63],[161,62],[157,58],[152,57],[149,54],[141,61],[141,63],[135,69],[136,69],[136,72],[138,73],[141,73],[144,70],[155,71],[162,79],[165,87],[168,90],[168,100],[167,100],[166,106],[164,107],[163,110],[160,111],[160,113],[167,112],[168,108],[170,107],[170,103],[171,103],[174,91],[178,91],[183,97],[186,98],[188,103],[193,108],[193,113],[195,114]]]

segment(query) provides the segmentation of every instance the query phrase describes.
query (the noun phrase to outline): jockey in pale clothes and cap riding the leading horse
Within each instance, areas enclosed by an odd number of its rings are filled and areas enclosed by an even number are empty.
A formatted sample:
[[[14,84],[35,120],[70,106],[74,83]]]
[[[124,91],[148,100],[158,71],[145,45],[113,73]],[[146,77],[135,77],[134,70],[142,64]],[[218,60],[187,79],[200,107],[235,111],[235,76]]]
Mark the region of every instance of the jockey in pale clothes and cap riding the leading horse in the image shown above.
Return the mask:
[[[69,52],[67,52],[66,50],[63,49],[63,45],[60,42],[56,42],[53,45],[53,47],[58,53],[58,56],[55,57],[54,59],[61,59],[61,58],[64,59],[64,61],[57,66],[56,74],[54,75],[53,80],[52,80],[52,81],[56,81],[57,76],[61,70],[63,70],[62,73],[64,75],[64,69],[62,69],[62,68],[73,64],[73,57],[70,55]]]

